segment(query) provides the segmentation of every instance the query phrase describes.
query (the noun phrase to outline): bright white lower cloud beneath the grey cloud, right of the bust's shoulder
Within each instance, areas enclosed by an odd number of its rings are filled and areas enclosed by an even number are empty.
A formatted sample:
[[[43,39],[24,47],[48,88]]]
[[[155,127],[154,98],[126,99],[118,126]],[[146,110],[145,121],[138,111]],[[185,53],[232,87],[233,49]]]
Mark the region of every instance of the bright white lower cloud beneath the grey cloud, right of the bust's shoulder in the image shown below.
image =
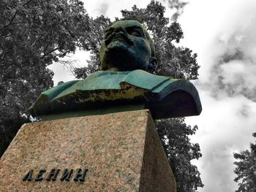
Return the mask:
[[[192,142],[198,142],[203,153],[200,161],[193,162],[205,184],[200,191],[234,191],[233,153],[245,150],[253,141],[256,104],[244,96],[214,99],[207,91],[202,91],[200,97],[202,114],[187,118],[187,123],[199,126]]]

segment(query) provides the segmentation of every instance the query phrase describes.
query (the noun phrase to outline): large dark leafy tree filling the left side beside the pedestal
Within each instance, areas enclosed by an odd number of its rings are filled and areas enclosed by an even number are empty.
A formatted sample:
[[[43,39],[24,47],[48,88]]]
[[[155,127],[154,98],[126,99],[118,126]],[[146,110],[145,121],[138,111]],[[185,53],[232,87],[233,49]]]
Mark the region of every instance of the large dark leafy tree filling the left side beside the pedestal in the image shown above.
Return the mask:
[[[88,31],[81,1],[0,0],[0,155],[53,86],[47,66],[82,47]]]

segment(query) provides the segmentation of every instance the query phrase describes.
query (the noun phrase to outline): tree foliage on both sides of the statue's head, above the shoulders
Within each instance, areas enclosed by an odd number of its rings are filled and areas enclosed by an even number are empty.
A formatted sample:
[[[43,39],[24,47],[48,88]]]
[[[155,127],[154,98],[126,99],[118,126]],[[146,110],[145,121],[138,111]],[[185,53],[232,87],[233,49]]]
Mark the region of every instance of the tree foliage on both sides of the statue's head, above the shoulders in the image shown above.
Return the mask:
[[[121,11],[123,18],[135,18],[143,23],[143,26],[150,31],[154,39],[157,50],[158,66],[154,74],[171,76],[174,78],[186,78],[187,80],[197,79],[197,54],[187,47],[176,47],[183,38],[181,26],[176,22],[169,22],[164,17],[165,7],[157,1],[151,1],[145,9],[132,7],[132,11],[127,9]],[[118,18],[116,18],[118,20]],[[97,34],[93,32],[91,40],[91,59],[89,66],[75,69],[77,78],[86,78],[90,72],[95,72],[99,67],[99,47],[101,45],[104,28],[109,26],[110,20],[101,16],[91,20],[91,25],[98,28]]]

